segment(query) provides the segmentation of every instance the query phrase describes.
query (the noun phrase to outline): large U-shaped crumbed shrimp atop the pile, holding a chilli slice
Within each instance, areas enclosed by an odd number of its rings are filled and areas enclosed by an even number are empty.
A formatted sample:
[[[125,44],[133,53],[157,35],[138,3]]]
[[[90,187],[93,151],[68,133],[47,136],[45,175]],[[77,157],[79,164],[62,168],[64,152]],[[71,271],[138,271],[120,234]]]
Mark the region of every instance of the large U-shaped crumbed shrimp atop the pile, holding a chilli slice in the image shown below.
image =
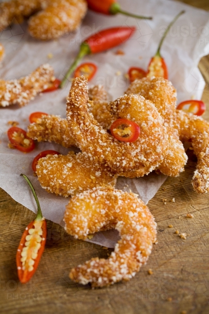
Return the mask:
[[[164,159],[168,146],[163,119],[155,106],[139,95],[124,95],[116,100],[127,111],[120,117],[134,120],[141,128],[132,143],[119,142],[99,125],[89,112],[86,78],[75,78],[67,100],[69,130],[95,163],[107,165],[122,176],[138,177],[154,170]]]

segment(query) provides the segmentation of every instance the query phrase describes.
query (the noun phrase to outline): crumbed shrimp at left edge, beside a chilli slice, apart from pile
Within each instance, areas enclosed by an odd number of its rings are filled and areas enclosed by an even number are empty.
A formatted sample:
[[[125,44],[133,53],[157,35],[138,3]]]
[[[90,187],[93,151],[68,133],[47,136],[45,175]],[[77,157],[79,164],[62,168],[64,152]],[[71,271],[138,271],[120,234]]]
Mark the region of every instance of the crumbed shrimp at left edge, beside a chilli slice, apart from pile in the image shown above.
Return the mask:
[[[49,64],[43,64],[28,76],[10,81],[0,80],[0,106],[25,106],[47,87],[54,74]]]

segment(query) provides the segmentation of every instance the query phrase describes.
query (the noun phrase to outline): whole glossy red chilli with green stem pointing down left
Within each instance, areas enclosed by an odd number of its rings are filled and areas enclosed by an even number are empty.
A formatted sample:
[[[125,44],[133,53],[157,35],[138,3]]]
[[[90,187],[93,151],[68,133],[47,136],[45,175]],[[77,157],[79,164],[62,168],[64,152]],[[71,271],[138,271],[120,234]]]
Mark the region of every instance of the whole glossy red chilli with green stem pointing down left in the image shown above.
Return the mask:
[[[136,28],[133,27],[113,27],[106,30],[102,30],[97,34],[91,35],[87,38],[80,47],[80,51],[71,65],[68,72],[65,74],[65,78],[62,80],[60,87],[63,88],[69,76],[76,69],[78,63],[82,58],[90,53],[98,53],[111,49],[115,46],[122,44],[124,41],[127,41]]]

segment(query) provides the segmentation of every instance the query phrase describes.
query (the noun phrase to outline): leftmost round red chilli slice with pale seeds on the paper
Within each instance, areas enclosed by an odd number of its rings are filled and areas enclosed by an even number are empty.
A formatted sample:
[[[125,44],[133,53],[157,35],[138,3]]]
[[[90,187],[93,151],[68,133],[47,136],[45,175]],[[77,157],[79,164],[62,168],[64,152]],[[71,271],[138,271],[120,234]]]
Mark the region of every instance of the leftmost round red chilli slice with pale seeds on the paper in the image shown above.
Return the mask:
[[[20,127],[10,127],[7,135],[12,146],[21,152],[29,153],[35,148],[34,141]]]

